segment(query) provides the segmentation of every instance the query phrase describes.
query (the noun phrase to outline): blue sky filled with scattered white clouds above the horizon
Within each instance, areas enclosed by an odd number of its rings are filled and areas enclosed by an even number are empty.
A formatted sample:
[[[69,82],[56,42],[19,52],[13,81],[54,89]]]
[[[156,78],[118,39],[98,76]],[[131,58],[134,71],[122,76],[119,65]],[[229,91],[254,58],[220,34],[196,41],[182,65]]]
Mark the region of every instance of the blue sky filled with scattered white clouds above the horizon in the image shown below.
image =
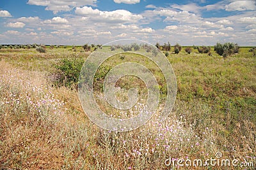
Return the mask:
[[[0,43],[256,46],[255,0],[1,0]]]

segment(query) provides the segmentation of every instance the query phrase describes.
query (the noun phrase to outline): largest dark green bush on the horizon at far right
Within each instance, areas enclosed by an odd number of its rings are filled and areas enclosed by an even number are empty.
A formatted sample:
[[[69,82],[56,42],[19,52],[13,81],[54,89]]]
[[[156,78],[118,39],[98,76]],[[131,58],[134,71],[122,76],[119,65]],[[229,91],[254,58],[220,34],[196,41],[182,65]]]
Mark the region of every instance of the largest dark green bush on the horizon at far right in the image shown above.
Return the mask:
[[[222,55],[224,58],[228,55],[232,55],[233,53],[237,53],[239,50],[239,46],[234,43],[217,43],[214,45],[214,51],[218,53],[218,55]]]

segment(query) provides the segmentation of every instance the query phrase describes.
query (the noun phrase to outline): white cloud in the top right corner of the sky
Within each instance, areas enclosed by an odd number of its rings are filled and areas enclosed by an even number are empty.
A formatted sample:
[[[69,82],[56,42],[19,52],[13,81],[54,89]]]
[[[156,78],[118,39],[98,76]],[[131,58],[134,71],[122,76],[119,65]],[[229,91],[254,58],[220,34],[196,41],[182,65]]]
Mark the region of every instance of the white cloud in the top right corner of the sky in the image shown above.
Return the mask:
[[[235,1],[225,6],[226,11],[256,10],[255,1]]]

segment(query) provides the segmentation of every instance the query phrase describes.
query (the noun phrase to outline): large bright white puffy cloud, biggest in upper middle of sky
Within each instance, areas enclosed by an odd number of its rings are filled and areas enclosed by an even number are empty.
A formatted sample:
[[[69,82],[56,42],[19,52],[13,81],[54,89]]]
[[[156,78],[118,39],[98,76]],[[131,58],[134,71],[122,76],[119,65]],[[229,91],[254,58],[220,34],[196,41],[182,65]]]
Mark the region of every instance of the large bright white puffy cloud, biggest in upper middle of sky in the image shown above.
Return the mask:
[[[89,17],[91,20],[100,22],[137,22],[142,19],[141,15],[136,15],[127,10],[100,11],[93,10],[92,7],[77,7],[75,10],[77,15]]]

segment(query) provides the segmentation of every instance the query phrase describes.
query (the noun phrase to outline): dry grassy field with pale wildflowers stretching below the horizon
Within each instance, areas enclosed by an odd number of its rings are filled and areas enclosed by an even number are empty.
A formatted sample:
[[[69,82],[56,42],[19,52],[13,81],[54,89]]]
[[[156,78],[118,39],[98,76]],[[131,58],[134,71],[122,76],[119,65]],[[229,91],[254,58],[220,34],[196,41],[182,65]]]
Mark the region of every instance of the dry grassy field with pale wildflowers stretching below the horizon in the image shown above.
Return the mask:
[[[213,48],[212,56],[195,49],[188,54],[184,48],[170,53],[167,59],[177,78],[170,117],[165,122],[153,117],[130,132],[109,132],[90,122],[75,85],[56,85],[51,78],[60,60],[85,60],[90,52],[72,46],[47,47],[46,53],[0,49],[0,169],[241,169],[164,164],[169,157],[214,159],[217,152],[221,159],[253,162],[254,167],[243,169],[255,169],[256,57],[248,50],[240,48],[226,59]],[[140,56],[118,54],[102,68],[130,60],[147,63],[164,89],[163,74]],[[102,81],[99,77],[95,83],[99,99]],[[128,77],[118,85],[140,89],[141,102],[122,114],[140,113],[147,97],[143,82]],[[120,114],[98,103],[107,113]]]

